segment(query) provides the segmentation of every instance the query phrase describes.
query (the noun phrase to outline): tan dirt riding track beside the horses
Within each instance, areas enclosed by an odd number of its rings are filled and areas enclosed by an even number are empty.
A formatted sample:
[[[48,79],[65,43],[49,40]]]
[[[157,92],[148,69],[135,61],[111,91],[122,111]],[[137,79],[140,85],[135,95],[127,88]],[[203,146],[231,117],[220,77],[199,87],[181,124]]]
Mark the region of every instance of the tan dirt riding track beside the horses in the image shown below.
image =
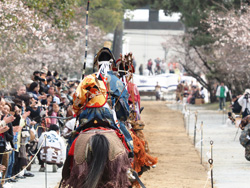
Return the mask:
[[[141,180],[147,188],[203,188],[207,180],[205,167],[188,138],[183,116],[163,101],[142,101],[144,134],[157,167],[145,172]],[[211,187],[208,181],[206,187]]]

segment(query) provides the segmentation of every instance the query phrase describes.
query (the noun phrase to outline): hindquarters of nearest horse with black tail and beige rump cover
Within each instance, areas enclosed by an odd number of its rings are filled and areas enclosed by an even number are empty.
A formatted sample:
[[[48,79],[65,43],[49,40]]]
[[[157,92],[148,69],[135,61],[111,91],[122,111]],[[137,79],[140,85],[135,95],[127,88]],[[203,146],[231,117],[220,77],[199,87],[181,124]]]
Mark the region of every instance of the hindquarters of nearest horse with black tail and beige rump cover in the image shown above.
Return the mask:
[[[96,119],[89,124],[85,128],[91,128],[82,131],[70,148],[62,170],[61,187],[130,187],[127,174],[131,162],[115,130],[98,124]]]

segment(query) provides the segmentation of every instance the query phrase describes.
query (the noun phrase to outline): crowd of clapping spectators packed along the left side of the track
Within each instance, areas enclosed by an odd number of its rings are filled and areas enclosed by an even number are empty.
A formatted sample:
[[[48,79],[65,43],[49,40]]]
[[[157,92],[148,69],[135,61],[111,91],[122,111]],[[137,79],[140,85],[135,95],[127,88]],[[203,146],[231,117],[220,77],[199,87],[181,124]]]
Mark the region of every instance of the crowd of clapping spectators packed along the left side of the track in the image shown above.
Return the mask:
[[[57,117],[73,115],[72,95],[78,84],[43,66],[15,92],[0,93],[0,170],[1,179],[7,178],[1,185],[34,176],[29,161],[38,150],[39,137],[48,130],[56,132],[54,125],[61,129],[63,122]],[[37,157],[39,171],[44,172],[44,162]]]

